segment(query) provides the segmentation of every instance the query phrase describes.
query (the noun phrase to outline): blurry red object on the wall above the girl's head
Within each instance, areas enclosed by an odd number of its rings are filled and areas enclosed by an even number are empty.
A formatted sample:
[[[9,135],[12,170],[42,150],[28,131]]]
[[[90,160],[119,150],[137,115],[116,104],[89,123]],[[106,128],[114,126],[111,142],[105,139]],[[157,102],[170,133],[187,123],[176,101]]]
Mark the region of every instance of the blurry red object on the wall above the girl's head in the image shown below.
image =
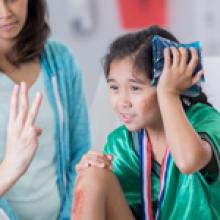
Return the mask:
[[[166,0],[118,0],[124,28],[166,25]]]

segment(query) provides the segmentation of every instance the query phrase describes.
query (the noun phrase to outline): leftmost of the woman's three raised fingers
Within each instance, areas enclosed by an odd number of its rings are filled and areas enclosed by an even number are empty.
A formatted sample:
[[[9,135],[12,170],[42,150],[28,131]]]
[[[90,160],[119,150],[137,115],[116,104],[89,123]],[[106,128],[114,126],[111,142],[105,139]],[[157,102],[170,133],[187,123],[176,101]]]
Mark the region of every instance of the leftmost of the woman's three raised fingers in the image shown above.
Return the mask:
[[[19,85],[15,85],[11,95],[10,110],[9,110],[9,123],[13,122],[17,118],[18,114],[18,98],[19,98]]]

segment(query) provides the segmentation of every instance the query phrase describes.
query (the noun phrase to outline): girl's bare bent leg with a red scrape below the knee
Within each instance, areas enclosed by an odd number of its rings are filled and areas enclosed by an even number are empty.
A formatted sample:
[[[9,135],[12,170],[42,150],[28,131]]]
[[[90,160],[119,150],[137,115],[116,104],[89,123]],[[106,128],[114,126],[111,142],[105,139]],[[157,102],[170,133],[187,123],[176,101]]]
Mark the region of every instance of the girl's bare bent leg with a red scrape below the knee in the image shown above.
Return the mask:
[[[77,177],[72,210],[74,220],[134,220],[115,175],[90,167]]]

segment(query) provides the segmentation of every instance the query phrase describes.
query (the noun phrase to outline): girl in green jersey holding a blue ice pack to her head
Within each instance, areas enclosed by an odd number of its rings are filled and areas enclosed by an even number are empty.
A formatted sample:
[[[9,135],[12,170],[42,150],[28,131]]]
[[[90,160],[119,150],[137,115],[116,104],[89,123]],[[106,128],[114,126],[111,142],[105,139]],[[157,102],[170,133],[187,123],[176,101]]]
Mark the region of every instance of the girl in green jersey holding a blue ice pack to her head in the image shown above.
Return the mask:
[[[186,49],[166,48],[151,86],[154,35],[178,43],[152,26],[120,37],[105,57],[111,104],[124,126],[108,136],[104,154],[90,152],[78,164],[73,219],[220,219],[220,115],[202,91],[181,95],[203,75],[192,76],[193,48],[189,61]]]

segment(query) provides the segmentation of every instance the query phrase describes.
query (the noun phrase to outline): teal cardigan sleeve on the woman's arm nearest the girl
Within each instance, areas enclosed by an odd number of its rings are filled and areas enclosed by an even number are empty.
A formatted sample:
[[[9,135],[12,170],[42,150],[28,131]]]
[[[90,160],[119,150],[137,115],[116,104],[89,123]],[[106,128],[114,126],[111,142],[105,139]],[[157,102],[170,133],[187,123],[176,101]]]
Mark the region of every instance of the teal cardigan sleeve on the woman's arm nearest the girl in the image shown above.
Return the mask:
[[[69,106],[69,164],[67,166],[67,191],[61,219],[69,219],[76,177],[75,166],[91,147],[90,129],[82,74],[71,53],[68,54],[68,106]]]

